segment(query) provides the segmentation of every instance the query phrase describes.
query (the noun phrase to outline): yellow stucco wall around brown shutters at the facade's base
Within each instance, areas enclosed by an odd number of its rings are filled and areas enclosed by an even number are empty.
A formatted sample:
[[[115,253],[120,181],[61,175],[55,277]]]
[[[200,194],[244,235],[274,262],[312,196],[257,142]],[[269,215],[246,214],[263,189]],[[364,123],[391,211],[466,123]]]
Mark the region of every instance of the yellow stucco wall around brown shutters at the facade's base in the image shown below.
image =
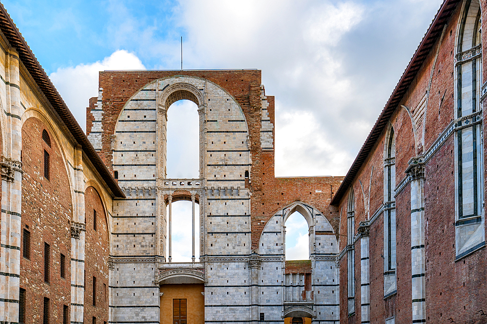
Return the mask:
[[[205,296],[201,294],[204,291],[203,284],[162,285],[161,324],[172,324],[173,299],[187,299],[187,324],[204,324]]]

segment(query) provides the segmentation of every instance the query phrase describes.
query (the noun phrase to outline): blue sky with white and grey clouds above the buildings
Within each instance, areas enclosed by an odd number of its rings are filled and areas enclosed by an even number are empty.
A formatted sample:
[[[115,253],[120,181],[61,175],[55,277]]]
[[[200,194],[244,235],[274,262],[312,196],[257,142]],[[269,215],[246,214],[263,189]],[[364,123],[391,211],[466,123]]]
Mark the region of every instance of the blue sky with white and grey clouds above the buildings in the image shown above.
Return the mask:
[[[2,1],[83,129],[99,70],[180,69],[181,36],[184,69],[261,69],[276,176],[346,174],[441,3]],[[168,158],[169,175],[197,170]]]

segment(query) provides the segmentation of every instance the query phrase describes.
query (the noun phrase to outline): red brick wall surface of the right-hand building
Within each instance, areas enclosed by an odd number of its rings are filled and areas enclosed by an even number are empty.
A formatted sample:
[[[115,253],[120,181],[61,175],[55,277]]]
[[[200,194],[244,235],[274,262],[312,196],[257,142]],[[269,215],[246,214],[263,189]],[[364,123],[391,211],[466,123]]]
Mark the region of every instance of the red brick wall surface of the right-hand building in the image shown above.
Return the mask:
[[[453,59],[459,12],[460,10],[457,9],[450,18],[443,37],[433,46],[427,61],[421,67],[410,90],[401,102],[409,109],[411,115],[399,105],[390,119],[395,136],[396,182],[394,187],[399,186],[407,177],[405,171],[408,168],[408,161],[416,154],[426,153],[449,127],[450,121],[454,119]],[[437,46],[439,46],[439,50],[435,61]],[[429,96],[426,96],[428,90]],[[426,102],[428,102],[427,105]],[[423,115],[422,112],[424,112]],[[370,217],[384,202],[382,171],[384,138],[385,132],[376,140],[375,148],[363,163],[352,184],[356,200],[356,230],[359,222],[367,220],[367,201],[370,199]],[[440,142],[438,150],[428,156],[425,163],[426,318],[431,323],[443,323],[449,318],[455,321],[479,318],[474,309],[480,309],[479,303],[485,304],[487,298],[483,285],[487,266],[485,249],[455,262],[454,152],[454,135],[450,134]],[[375,171],[369,198],[368,187],[372,167]],[[364,194],[362,194],[358,180],[362,183]],[[371,319],[382,321],[382,319],[395,317],[395,323],[406,323],[412,318],[410,187],[411,185],[406,179],[405,186],[398,188],[395,197],[397,293],[385,299],[383,299],[384,276],[382,275],[384,272],[382,257],[384,255],[384,213],[380,212],[370,225]],[[338,205],[338,209],[344,210],[340,216],[342,238],[340,251],[346,247],[346,205],[347,197],[344,196]],[[356,256],[359,254],[358,242],[355,244]],[[356,314],[349,317],[346,254],[340,260],[339,271],[341,322],[356,323],[357,320],[360,320],[360,287],[356,284]],[[355,275],[358,284],[361,271],[363,269],[360,269],[360,260],[356,259]]]

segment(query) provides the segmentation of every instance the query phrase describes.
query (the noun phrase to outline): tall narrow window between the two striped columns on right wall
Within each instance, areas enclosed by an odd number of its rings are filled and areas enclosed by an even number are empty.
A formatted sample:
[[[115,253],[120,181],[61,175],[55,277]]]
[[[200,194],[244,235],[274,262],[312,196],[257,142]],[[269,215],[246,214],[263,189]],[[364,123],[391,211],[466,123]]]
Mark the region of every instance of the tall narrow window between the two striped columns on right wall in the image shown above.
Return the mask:
[[[384,148],[384,296],[396,291],[395,140],[392,126]]]

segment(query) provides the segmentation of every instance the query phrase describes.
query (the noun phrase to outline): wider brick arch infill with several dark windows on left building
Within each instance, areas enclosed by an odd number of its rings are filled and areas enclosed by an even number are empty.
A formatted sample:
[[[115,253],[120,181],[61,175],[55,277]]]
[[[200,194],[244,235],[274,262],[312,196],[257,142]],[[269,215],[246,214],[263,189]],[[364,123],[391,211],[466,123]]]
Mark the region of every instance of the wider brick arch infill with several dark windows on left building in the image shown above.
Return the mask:
[[[46,130],[51,139],[56,133],[49,124],[31,117],[23,122],[22,134],[22,191],[20,233],[30,235],[30,257],[20,253],[20,287],[26,290],[27,318],[41,318],[37,307],[39,296],[53,302],[55,323],[60,323],[63,305],[71,300],[71,229],[73,215],[69,176],[63,168],[64,158],[58,141],[49,147],[42,139]],[[44,150],[49,155],[49,180],[44,177]],[[45,244],[49,245],[49,275],[44,278]],[[23,242],[22,242],[23,244]],[[23,247],[23,245],[22,245]],[[64,278],[61,277],[61,254],[64,256]],[[36,273],[35,276],[32,274]],[[28,278],[28,281],[26,280]]]

